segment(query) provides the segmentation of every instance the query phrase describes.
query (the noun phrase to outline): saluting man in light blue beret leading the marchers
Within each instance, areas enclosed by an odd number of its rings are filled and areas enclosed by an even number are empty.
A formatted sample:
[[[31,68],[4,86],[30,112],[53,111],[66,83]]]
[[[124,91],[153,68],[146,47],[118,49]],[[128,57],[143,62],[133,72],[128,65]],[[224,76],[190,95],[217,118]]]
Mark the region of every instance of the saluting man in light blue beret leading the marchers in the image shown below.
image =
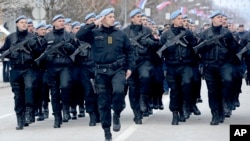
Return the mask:
[[[111,141],[111,105],[113,131],[117,132],[121,128],[120,114],[125,108],[125,83],[134,67],[134,50],[127,35],[113,26],[114,9],[104,9],[100,15],[100,19],[85,25],[76,35],[92,46],[101,123],[106,141]],[[100,23],[101,28],[95,28]]]

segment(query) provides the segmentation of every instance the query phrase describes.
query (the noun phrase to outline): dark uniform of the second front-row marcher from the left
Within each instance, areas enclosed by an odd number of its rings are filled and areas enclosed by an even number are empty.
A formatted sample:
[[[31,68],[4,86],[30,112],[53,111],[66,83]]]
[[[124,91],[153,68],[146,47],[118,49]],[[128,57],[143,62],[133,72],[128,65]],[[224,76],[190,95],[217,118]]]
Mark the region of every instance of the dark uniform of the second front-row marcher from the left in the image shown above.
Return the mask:
[[[47,41],[47,49],[53,48],[59,42],[64,44],[56,51],[47,54],[46,66],[48,85],[51,91],[51,102],[55,116],[55,128],[60,127],[61,109],[63,109],[63,122],[68,122],[69,98],[72,92],[72,70],[73,61],[69,57],[75,51],[75,41],[70,33],[62,29],[53,29],[44,37]],[[45,51],[46,51],[45,50]],[[61,105],[62,104],[62,105]]]

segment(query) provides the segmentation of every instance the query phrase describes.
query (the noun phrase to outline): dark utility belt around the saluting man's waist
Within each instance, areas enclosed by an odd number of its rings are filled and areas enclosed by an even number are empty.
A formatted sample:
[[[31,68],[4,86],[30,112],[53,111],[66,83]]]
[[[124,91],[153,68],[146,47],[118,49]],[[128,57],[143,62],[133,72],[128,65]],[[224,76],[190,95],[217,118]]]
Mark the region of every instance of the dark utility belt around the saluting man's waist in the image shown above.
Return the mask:
[[[108,71],[113,72],[122,68],[124,66],[124,63],[125,63],[125,59],[122,58],[110,64],[96,64],[95,66],[96,66],[97,72],[106,73]]]

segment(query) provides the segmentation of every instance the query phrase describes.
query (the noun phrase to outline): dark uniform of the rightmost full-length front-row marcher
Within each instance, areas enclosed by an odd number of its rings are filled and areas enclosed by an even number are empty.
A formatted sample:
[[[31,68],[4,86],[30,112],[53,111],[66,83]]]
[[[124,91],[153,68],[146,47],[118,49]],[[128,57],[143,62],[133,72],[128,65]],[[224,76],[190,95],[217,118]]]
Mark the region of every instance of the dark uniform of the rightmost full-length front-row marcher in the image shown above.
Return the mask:
[[[211,26],[201,33],[201,41],[225,34],[220,44],[210,44],[200,49],[204,64],[205,79],[208,87],[209,107],[212,112],[211,125],[224,121],[229,109],[229,98],[233,91],[234,64],[239,60],[236,53],[239,45],[232,33],[222,26]]]

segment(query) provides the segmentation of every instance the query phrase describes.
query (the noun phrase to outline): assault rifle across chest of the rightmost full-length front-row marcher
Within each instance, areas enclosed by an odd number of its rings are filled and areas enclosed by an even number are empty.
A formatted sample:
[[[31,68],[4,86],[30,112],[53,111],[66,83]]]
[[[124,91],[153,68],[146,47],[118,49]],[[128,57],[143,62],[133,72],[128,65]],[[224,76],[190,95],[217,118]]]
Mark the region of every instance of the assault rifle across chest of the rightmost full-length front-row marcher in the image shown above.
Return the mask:
[[[217,35],[215,37],[212,37],[211,39],[208,39],[208,40],[204,40],[203,42],[201,42],[200,44],[198,44],[197,46],[193,47],[194,49],[194,52],[197,54],[198,53],[198,50],[204,46],[207,46],[207,45],[211,45],[211,44],[217,44],[219,46],[222,46],[221,42],[220,42],[220,39],[223,38],[227,33],[223,33],[223,34],[220,34],[220,35]]]

